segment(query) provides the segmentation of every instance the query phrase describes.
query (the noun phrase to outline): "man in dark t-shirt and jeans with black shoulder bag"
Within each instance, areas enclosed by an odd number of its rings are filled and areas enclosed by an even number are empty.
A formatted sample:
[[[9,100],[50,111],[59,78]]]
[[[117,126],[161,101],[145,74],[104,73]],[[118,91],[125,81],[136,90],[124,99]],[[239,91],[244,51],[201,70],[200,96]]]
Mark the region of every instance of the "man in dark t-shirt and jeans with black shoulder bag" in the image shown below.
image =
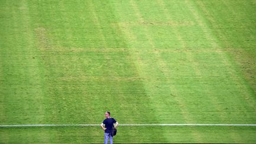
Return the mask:
[[[110,138],[110,144],[113,144],[113,136],[111,136],[111,132],[113,130],[113,127],[116,129],[116,127],[119,125],[117,121],[114,118],[110,117],[110,112],[105,112],[105,120],[103,123],[101,123],[101,128],[105,131],[105,142],[104,144],[107,144],[108,137]],[[116,123],[116,126],[114,126],[114,123]],[[105,124],[105,127],[103,126]]]

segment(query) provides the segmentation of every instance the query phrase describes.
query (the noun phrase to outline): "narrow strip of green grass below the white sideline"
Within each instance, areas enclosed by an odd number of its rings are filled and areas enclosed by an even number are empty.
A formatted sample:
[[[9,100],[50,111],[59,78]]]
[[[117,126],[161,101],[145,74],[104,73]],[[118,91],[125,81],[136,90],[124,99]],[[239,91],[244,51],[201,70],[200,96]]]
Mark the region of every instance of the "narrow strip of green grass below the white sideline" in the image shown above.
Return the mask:
[[[170,130],[171,129],[171,130]],[[119,127],[115,143],[197,143],[191,132],[196,131],[204,143],[254,142],[252,127]],[[164,135],[160,135],[165,132]],[[152,135],[155,133],[156,135]],[[3,142],[26,143],[104,143],[98,127],[44,127],[1,129]],[[232,137],[230,137],[232,135]],[[243,139],[239,139],[243,137]]]

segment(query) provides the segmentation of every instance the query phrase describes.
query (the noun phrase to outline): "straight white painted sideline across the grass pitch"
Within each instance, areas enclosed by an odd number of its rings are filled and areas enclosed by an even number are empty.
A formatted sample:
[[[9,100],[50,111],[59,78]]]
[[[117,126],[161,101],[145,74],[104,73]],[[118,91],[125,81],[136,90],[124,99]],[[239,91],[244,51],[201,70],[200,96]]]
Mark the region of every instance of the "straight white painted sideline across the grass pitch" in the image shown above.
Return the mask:
[[[100,124],[14,124],[0,127],[100,126]],[[119,126],[256,126],[256,124],[119,124]]]

